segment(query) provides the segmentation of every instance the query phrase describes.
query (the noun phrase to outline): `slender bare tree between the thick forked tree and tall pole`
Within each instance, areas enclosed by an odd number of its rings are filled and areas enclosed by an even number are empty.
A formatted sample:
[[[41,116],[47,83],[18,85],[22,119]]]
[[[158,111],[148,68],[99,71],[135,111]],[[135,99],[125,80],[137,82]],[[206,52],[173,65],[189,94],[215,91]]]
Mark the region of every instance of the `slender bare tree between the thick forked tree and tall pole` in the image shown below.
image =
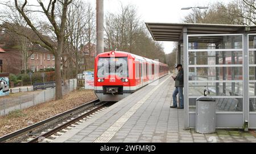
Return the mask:
[[[78,79],[77,75],[86,69],[87,53],[85,54],[84,52],[85,48],[88,48],[86,51],[89,51],[89,55],[91,55],[91,44],[95,42],[96,36],[95,14],[90,3],[83,3],[80,0],[73,1],[68,9],[65,31],[69,35],[67,39],[68,49],[65,50],[63,55],[66,57],[64,60],[64,71],[66,72],[65,74],[69,76],[75,75]]]

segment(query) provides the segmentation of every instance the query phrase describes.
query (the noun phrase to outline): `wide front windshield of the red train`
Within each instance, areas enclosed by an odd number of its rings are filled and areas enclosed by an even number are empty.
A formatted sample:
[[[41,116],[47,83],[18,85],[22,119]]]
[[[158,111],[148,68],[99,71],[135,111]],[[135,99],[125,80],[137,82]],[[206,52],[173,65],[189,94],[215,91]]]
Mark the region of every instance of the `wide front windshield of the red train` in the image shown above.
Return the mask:
[[[117,75],[128,77],[127,57],[100,57],[98,59],[98,77]]]

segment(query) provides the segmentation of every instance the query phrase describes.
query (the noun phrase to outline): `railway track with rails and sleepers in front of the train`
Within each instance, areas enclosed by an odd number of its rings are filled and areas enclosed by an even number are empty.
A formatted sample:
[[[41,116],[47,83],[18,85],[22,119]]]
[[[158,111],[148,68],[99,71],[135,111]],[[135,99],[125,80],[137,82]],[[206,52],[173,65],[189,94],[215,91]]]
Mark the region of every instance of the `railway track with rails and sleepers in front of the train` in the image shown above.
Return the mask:
[[[49,142],[112,105],[98,99],[0,138],[0,142]]]

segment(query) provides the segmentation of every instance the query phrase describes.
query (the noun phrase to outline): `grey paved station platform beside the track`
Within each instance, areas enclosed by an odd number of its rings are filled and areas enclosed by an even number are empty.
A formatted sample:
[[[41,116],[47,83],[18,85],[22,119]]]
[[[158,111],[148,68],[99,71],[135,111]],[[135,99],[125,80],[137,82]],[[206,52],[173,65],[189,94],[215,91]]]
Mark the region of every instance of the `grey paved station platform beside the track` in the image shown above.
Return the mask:
[[[173,90],[171,76],[163,77],[52,142],[256,142],[253,135],[239,131],[203,135],[183,130],[183,109],[170,109]]]

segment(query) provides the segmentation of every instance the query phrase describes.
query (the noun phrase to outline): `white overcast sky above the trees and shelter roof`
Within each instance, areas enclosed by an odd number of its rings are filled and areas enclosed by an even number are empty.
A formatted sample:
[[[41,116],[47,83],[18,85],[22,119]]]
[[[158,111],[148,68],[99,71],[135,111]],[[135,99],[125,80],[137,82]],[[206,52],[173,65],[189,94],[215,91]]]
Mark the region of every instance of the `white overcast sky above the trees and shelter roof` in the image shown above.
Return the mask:
[[[84,0],[91,2],[94,6],[96,0]],[[228,3],[231,0],[104,0],[104,11],[117,13],[119,6],[133,4],[137,6],[138,15],[144,22],[167,22],[180,23],[185,15],[191,13],[192,10],[181,10],[182,7],[190,6],[208,6],[214,2]],[[170,53],[173,49],[171,42],[163,42],[164,52]]]

